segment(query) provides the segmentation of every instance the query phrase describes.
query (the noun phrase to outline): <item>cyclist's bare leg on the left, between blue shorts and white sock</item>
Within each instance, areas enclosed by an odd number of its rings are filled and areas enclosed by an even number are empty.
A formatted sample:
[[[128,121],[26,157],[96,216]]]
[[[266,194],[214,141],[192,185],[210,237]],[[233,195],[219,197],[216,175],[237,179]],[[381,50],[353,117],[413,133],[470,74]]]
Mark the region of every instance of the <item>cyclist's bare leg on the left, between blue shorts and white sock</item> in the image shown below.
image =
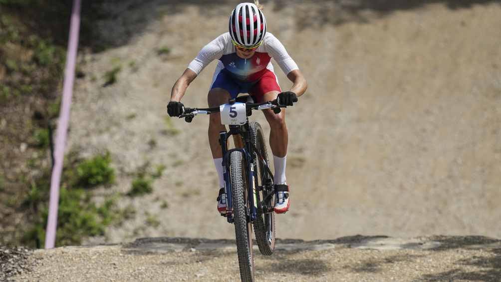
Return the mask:
[[[209,108],[218,107],[225,104],[231,98],[229,93],[222,88],[214,88],[209,91],[207,102]],[[212,151],[212,157],[222,158],[221,146],[219,145],[219,132],[226,131],[224,125],[221,124],[221,116],[219,113],[210,114],[209,117],[209,145]]]

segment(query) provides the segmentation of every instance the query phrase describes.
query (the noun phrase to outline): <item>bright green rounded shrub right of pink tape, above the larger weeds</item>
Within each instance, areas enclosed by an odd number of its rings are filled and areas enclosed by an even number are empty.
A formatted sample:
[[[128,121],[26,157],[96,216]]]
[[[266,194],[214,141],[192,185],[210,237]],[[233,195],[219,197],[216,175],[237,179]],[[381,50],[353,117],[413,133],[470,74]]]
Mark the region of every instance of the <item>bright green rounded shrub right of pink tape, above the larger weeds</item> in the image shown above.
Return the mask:
[[[95,156],[85,160],[77,166],[74,186],[92,188],[101,184],[115,182],[115,170],[111,167],[110,153],[104,156]]]

